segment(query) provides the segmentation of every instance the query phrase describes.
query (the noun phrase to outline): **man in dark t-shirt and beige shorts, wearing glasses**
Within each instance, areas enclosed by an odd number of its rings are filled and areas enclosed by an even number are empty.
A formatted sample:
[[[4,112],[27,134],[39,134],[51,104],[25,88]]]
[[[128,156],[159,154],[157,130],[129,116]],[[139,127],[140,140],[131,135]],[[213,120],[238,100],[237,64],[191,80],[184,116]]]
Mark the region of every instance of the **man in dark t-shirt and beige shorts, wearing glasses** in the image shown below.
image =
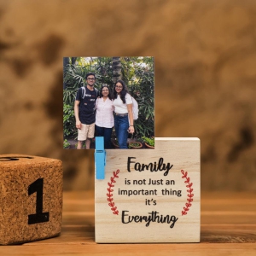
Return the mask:
[[[85,141],[86,149],[90,149],[90,139],[94,137],[96,120],[97,90],[95,73],[87,73],[85,76],[86,86],[79,88],[74,103],[76,128],[78,128],[78,149],[82,148]]]

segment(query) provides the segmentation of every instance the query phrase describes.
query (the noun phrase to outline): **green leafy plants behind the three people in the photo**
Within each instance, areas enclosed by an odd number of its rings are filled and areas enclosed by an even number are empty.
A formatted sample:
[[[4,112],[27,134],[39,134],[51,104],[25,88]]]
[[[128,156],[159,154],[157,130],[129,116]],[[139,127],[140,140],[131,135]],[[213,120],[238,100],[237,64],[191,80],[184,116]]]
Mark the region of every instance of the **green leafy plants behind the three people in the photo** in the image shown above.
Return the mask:
[[[64,67],[64,137],[75,137],[77,133],[72,109],[79,87],[85,84],[86,73],[96,73],[95,87],[98,90],[102,84],[108,84],[112,92],[114,89],[113,58],[80,57],[76,61],[73,65],[70,60]],[[131,96],[138,102],[139,116],[134,122],[134,136],[137,138],[152,137],[154,136],[154,59],[153,57],[120,57],[120,61],[122,79]]]

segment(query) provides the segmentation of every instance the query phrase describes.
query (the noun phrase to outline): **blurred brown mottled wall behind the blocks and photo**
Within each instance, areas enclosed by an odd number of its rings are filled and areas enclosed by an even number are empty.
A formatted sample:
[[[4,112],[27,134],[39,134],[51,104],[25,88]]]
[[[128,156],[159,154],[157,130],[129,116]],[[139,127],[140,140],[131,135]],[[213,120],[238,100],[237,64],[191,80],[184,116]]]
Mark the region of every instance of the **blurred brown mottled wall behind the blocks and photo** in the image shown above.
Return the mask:
[[[256,190],[255,1],[1,0],[0,24],[0,154],[93,189],[94,152],[62,149],[62,58],[150,55],[156,137],[201,138],[202,190]]]

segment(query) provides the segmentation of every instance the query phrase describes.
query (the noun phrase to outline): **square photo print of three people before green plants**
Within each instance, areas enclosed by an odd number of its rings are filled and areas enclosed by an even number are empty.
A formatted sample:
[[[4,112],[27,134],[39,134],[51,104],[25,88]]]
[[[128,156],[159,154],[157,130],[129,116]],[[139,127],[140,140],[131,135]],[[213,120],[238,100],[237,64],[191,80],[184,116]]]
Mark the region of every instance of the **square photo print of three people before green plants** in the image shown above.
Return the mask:
[[[154,148],[154,57],[63,58],[63,148]]]

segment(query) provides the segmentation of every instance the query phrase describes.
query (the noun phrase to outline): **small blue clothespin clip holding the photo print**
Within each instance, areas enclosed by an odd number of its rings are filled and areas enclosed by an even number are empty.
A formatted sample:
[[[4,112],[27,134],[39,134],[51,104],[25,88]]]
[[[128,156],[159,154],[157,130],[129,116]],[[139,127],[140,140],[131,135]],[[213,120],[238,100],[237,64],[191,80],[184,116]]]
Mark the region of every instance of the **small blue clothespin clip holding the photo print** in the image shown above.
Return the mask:
[[[95,165],[96,179],[104,179],[106,166],[106,151],[104,149],[104,137],[96,137]]]

